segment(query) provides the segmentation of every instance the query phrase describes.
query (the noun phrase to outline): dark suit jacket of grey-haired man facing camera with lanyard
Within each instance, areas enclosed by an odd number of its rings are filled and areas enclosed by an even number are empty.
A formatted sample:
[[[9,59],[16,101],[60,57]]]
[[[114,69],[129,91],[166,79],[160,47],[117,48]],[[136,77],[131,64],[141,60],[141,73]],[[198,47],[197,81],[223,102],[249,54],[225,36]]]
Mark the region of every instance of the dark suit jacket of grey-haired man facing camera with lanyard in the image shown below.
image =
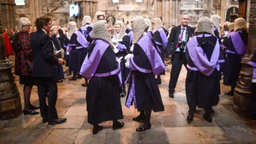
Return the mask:
[[[181,25],[172,28],[170,37],[168,39],[166,55],[171,55],[172,59],[176,50],[177,43],[179,41],[180,33],[181,33]],[[187,43],[189,41],[189,37],[192,37],[193,34],[194,34],[193,28],[187,26]],[[187,51],[186,51],[186,59],[188,59]]]

